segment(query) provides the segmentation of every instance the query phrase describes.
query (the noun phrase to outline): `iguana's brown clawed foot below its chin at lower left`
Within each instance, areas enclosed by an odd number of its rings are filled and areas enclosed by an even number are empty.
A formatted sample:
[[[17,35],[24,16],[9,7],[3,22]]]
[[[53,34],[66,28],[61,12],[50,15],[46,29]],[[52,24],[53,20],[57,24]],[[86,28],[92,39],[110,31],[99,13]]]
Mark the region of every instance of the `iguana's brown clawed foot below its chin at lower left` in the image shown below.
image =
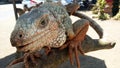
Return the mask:
[[[15,59],[14,61],[12,61],[12,62],[8,65],[8,67],[9,67],[9,66],[12,66],[12,65],[14,65],[14,64],[17,64],[17,63],[19,63],[19,62],[24,62],[25,68],[30,68],[30,67],[29,67],[29,66],[30,66],[29,64],[30,64],[30,63],[33,63],[33,64],[37,65],[38,63],[37,63],[36,58],[40,58],[40,57],[41,57],[41,54],[38,53],[38,52],[25,53],[23,57],[18,58],[18,59]],[[31,62],[29,62],[29,61],[31,61]]]

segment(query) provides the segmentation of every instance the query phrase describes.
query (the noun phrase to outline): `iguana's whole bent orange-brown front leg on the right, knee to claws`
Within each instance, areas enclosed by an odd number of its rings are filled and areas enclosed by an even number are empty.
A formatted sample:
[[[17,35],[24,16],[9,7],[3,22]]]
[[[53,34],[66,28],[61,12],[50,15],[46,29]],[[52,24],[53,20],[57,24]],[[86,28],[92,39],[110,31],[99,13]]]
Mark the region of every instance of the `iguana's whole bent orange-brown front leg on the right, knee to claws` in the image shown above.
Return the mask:
[[[72,54],[74,52],[76,62],[77,62],[77,67],[80,68],[80,61],[78,57],[78,51],[81,54],[84,54],[81,48],[81,42],[84,40],[84,37],[86,35],[86,32],[89,27],[89,21],[82,19],[78,20],[73,24],[73,31],[74,31],[74,37],[70,40],[68,40],[64,46],[61,47],[61,49],[64,49],[65,47],[68,46],[69,48],[69,56],[70,56],[70,62],[73,64],[73,58]]]

